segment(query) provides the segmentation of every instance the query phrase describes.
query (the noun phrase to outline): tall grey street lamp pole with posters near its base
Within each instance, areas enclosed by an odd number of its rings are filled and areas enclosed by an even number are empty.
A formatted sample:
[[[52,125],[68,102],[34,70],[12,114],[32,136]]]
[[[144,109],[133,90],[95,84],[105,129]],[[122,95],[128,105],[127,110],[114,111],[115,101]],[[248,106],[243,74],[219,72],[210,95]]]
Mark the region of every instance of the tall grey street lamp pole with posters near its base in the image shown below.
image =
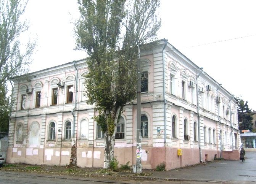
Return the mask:
[[[119,16],[116,16],[116,20],[121,22],[126,29],[134,35],[134,33],[122,22],[121,18]],[[141,73],[140,73],[140,41],[135,36],[135,39],[138,44],[138,54],[137,54],[137,149],[136,149],[136,173],[141,173],[142,171],[142,164],[141,164],[141,100],[140,100],[140,93],[141,93]]]

